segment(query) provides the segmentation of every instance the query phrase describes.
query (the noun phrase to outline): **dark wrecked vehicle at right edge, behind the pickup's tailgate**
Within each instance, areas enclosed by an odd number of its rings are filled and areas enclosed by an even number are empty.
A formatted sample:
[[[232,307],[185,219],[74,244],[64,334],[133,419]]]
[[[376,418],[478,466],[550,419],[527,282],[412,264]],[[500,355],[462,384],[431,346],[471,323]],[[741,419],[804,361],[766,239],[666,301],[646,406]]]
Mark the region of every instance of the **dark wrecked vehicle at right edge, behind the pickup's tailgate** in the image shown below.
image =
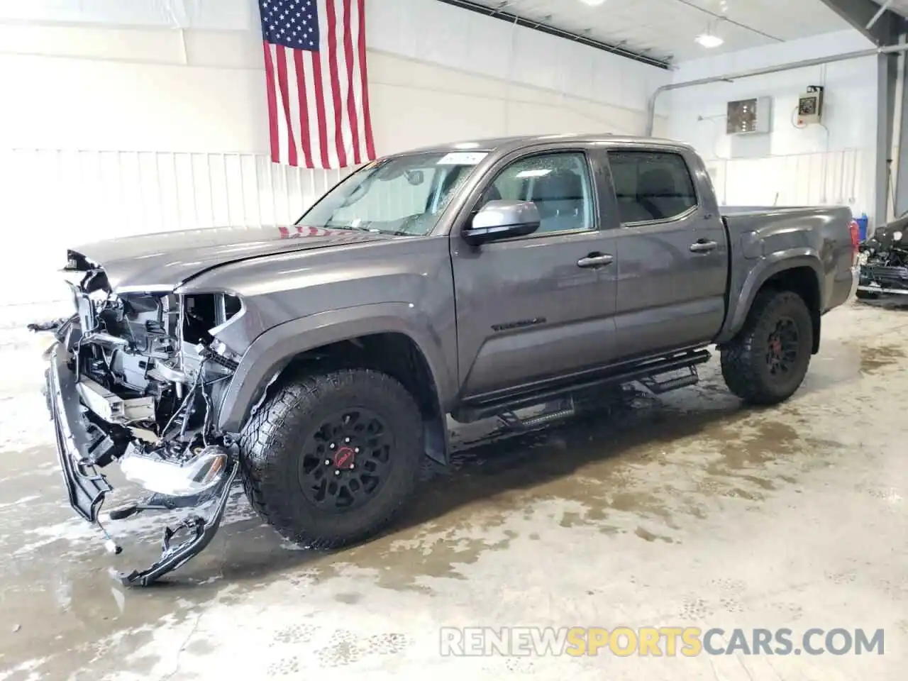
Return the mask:
[[[859,298],[908,295],[908,224],[900,219],[873,232],[858,246]]]

